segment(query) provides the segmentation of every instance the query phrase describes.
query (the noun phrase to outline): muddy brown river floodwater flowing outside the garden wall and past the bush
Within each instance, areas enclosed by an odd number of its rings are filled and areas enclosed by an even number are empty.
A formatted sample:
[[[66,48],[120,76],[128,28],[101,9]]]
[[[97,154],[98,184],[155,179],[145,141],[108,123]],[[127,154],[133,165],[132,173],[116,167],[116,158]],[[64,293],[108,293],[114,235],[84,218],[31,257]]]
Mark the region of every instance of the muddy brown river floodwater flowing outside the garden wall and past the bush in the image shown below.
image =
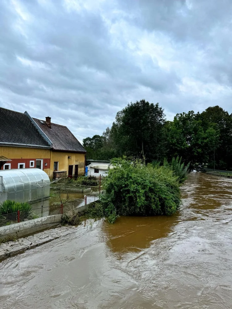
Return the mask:
[[[0,308],[232,308],[232,179],[191,173],[172,217],[80,226],[0,263]]]

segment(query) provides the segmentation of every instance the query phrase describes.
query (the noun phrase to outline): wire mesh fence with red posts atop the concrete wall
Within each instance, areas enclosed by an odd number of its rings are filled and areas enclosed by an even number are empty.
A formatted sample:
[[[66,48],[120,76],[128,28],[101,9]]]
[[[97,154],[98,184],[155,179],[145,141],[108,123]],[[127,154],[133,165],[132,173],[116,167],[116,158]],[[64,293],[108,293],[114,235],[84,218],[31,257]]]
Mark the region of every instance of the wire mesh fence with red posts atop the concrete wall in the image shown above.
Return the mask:
[[[23,221],[33,220],[41,217],[47,217],[55,214],[68,214],[78,207],[88,205],[99,200],[100,193],[94,195],[85,195],[83,198],[68,200],[64,204],[51,205],[31,210],[18,210],[15,213],[0,215],[0,226],[10,225]]]

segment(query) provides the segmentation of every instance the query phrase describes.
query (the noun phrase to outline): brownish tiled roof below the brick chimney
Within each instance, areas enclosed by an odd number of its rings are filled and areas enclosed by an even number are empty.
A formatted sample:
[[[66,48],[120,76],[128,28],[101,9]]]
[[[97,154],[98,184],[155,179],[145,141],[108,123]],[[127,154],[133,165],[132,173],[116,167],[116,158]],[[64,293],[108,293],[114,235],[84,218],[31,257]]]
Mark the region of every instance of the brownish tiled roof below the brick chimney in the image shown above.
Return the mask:
[[[49,128],[44,120],[33,119],[52,142],[54,150],[86,152],[81,143],[66,126],[51,123],[51,128]],[[42,124],[41,121],[44,122],[44,124]]]

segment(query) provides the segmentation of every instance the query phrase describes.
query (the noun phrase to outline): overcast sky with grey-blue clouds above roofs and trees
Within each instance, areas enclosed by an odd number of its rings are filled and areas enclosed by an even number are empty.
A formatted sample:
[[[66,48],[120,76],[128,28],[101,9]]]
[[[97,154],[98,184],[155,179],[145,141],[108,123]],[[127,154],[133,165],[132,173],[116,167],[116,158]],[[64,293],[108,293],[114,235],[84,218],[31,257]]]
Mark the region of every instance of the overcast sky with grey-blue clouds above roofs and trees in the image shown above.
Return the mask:
[[[130,101],[232,112],[231,0],[0,0],[0,106],[101,134]]]

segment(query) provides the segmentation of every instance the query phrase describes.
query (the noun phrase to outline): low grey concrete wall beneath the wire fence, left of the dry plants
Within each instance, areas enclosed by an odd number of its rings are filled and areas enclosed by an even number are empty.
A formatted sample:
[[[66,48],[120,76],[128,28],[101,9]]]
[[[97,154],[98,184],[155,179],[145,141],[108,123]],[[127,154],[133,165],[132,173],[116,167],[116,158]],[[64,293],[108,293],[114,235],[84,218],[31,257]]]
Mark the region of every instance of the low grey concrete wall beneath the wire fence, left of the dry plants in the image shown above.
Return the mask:
[[[55,214],[53,216],[47,216],[28,220],[24,222],[14,223],[11,225],[0,227],[0,238],[5,238],[7,235],[17,235],[23,237],[41,230],[45,230],[51,226],[58,225],[61,221],[61,214]]]

